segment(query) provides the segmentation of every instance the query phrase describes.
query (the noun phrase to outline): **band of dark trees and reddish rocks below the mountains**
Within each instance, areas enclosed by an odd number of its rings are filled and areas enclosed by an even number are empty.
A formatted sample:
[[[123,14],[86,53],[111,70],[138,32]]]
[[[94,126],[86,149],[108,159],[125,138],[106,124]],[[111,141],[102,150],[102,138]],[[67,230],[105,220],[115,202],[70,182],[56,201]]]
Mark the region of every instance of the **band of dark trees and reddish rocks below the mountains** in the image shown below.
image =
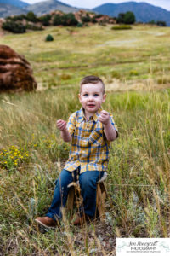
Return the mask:
[[[6,18],[5,22],[3,22],[3,29],[9,32],[14,33],[24,33],[27,29],[30,30],[42,30],[43,26],[84,26],[91,23],[97,23],[98,18],[104,15],[96,15],[94,14],[91,17],[88,12],[86,15],[82,15],[81,21],[78,21],[73,13],[69,14],[55,14],[55,15],[42,15],[41,17],[37,17],[32,11],[28,12],[26,15],[15,15],[9,16]],[[127,11],[126,13],[120,13],[118,17],[114,17],[117,24],[134,24],[136,22],[135,15],[131,11]],[[26,20],[24,23],[23,20]],[[99,24],[102,25],[107,23],[107,21],[102,20]],[[150,24],[157,26],[167,26],[164,21],[154,21],[151,20]],[[26,25],[25,25],[26,24]]]

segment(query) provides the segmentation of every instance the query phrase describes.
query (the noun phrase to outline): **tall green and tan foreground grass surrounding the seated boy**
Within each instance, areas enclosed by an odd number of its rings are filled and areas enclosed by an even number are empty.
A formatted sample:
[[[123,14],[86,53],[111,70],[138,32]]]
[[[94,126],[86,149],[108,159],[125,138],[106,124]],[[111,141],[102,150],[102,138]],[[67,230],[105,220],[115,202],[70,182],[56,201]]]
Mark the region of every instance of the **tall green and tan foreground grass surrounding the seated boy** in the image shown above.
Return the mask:
[[[170,90],[107,96],[104,108],[113,113],[120,137],[111,147],[105,224],[77,229],[65,213],[56,230],[37,229],[34,218],[47,211],[69,151],[55,121],[80,108],[77,93],[0,96],[3,255],[115,255],[116,236],[170,236]]]

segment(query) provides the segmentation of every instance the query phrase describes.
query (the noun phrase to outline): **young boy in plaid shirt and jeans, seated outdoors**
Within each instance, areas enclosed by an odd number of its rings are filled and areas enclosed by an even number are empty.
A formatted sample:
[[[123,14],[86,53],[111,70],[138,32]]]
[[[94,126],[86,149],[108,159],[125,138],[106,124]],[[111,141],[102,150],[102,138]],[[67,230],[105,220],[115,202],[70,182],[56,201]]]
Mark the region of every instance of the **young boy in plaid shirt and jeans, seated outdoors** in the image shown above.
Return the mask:
[[[83,202],[73,224],[83,224],[94,218],[97,183],[107,169],[110,142],[118,137],[111,114],[101,108],[105,97],[103,81],[87,76],[81,81],[79,101],[82,108],[71,114],[68,124],[62,119],[57,121],[62,139],[71,142],[71,151],[60,172],[51,207],[46,217],[36,218],[37,223],[48,228],[56,226],[56,220],[62,217],[61,207],[65,207],[68,184],[77,182],[77,175]]]

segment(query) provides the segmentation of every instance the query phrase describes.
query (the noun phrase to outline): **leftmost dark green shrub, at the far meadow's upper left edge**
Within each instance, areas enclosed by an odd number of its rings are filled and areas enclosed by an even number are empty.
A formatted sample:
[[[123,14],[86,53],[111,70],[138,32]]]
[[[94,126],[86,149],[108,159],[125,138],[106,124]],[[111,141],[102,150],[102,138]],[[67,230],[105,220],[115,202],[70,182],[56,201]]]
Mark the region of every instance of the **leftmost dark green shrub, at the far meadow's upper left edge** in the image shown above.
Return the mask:
[[[3,23],[3,29],[7,30],[9,32],[14,33],[25,33],[26,32],[26,26],[16,23],[14,21],[6,21]]]

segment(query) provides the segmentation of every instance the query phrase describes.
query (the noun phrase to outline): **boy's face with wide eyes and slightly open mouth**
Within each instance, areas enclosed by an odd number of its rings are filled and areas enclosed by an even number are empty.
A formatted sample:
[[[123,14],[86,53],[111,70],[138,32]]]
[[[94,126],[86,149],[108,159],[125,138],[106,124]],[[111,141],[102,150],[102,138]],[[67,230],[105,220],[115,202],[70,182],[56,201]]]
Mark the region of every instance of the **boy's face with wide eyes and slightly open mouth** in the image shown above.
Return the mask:
[[[98,84],[82,84],[79,100],[85,110],[85,114],[93,115],[96,113],[101,104],[105,102],[105,97],[106,95],[103,94],[103,86],[100,82]]]

